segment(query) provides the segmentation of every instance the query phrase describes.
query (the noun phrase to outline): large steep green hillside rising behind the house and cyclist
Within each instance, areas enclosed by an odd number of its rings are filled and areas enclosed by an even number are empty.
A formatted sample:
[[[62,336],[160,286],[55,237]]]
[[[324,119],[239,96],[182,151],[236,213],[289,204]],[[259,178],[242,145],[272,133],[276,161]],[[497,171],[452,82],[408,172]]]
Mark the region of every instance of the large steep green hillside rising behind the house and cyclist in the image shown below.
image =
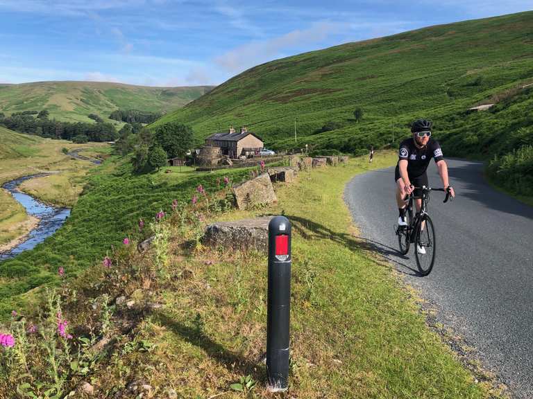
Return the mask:
[[[532,143],[533,86],[522,88],[533,82],[532,26],[533,12],[522,12],[287,57],[235,76],[154,125],[187,123],[198,141],[248,125],[278,149],[307,143],[361,153],[396,145],[409,122],[426,117],[446,154],[502,154]],[[491,102],[498,104],[490,112],[466,113]],[[321,132],[325,125],[330,131]]]

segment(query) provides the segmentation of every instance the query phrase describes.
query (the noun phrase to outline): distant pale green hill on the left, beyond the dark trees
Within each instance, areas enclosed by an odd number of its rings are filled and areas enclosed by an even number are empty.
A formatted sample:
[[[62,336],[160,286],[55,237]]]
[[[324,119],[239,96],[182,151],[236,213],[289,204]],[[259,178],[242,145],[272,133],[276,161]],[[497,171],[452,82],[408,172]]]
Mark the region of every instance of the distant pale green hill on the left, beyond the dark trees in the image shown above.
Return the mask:
[[[212,87],[144,87],[112,82],[33,82],[0,85],[0,112],[48,109],[51,118],[61,121],[92,122],[87,115],[108,118],[115,109],[168,112]]]

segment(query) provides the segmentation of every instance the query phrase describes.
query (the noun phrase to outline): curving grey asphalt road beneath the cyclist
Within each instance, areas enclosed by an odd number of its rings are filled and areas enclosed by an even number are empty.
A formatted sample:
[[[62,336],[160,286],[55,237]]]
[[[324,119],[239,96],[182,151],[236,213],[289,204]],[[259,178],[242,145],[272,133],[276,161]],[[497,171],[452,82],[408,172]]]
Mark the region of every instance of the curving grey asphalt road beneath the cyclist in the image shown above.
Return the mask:
[[[514,397],[533,398],[533,208],[493,190],[482,163],[447,162],[457,198],[431,195],[438,247],[429,276],[418,275],[413,246],[398,253],[394,168],[356,176],[346,202],[367,244],[437,308],[438,321],[477,348]],[[434,162],[428,175],[441,186]]]

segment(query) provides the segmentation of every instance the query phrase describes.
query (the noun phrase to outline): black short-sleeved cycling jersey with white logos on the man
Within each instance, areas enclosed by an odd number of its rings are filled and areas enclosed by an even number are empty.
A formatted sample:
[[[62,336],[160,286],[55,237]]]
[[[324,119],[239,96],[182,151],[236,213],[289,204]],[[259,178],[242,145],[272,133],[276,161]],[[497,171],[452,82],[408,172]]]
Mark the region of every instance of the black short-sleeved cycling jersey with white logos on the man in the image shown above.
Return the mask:
[[[407,159],[407,174],[409,180],[416,179],[425,175],[425,170],[428,169],[431,159],[435,162],[443,159],[441,145],[430,138],[428,144],[423,148],[418,148],[414,144],[414,138],[405,139],[400,143],[400,152],[398,153],[398,163],[401,159]],[[396,180],[400,178],[398,164],[396,164]]]

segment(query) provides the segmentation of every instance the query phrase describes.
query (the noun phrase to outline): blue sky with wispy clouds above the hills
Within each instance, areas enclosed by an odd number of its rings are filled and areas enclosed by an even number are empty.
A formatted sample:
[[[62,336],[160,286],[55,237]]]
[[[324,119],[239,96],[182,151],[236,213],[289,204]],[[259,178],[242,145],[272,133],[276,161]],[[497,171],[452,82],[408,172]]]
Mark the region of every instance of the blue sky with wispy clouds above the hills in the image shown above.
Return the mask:
[[[280,57],[532,0],[0,0],[0,82],[217,85]]]

